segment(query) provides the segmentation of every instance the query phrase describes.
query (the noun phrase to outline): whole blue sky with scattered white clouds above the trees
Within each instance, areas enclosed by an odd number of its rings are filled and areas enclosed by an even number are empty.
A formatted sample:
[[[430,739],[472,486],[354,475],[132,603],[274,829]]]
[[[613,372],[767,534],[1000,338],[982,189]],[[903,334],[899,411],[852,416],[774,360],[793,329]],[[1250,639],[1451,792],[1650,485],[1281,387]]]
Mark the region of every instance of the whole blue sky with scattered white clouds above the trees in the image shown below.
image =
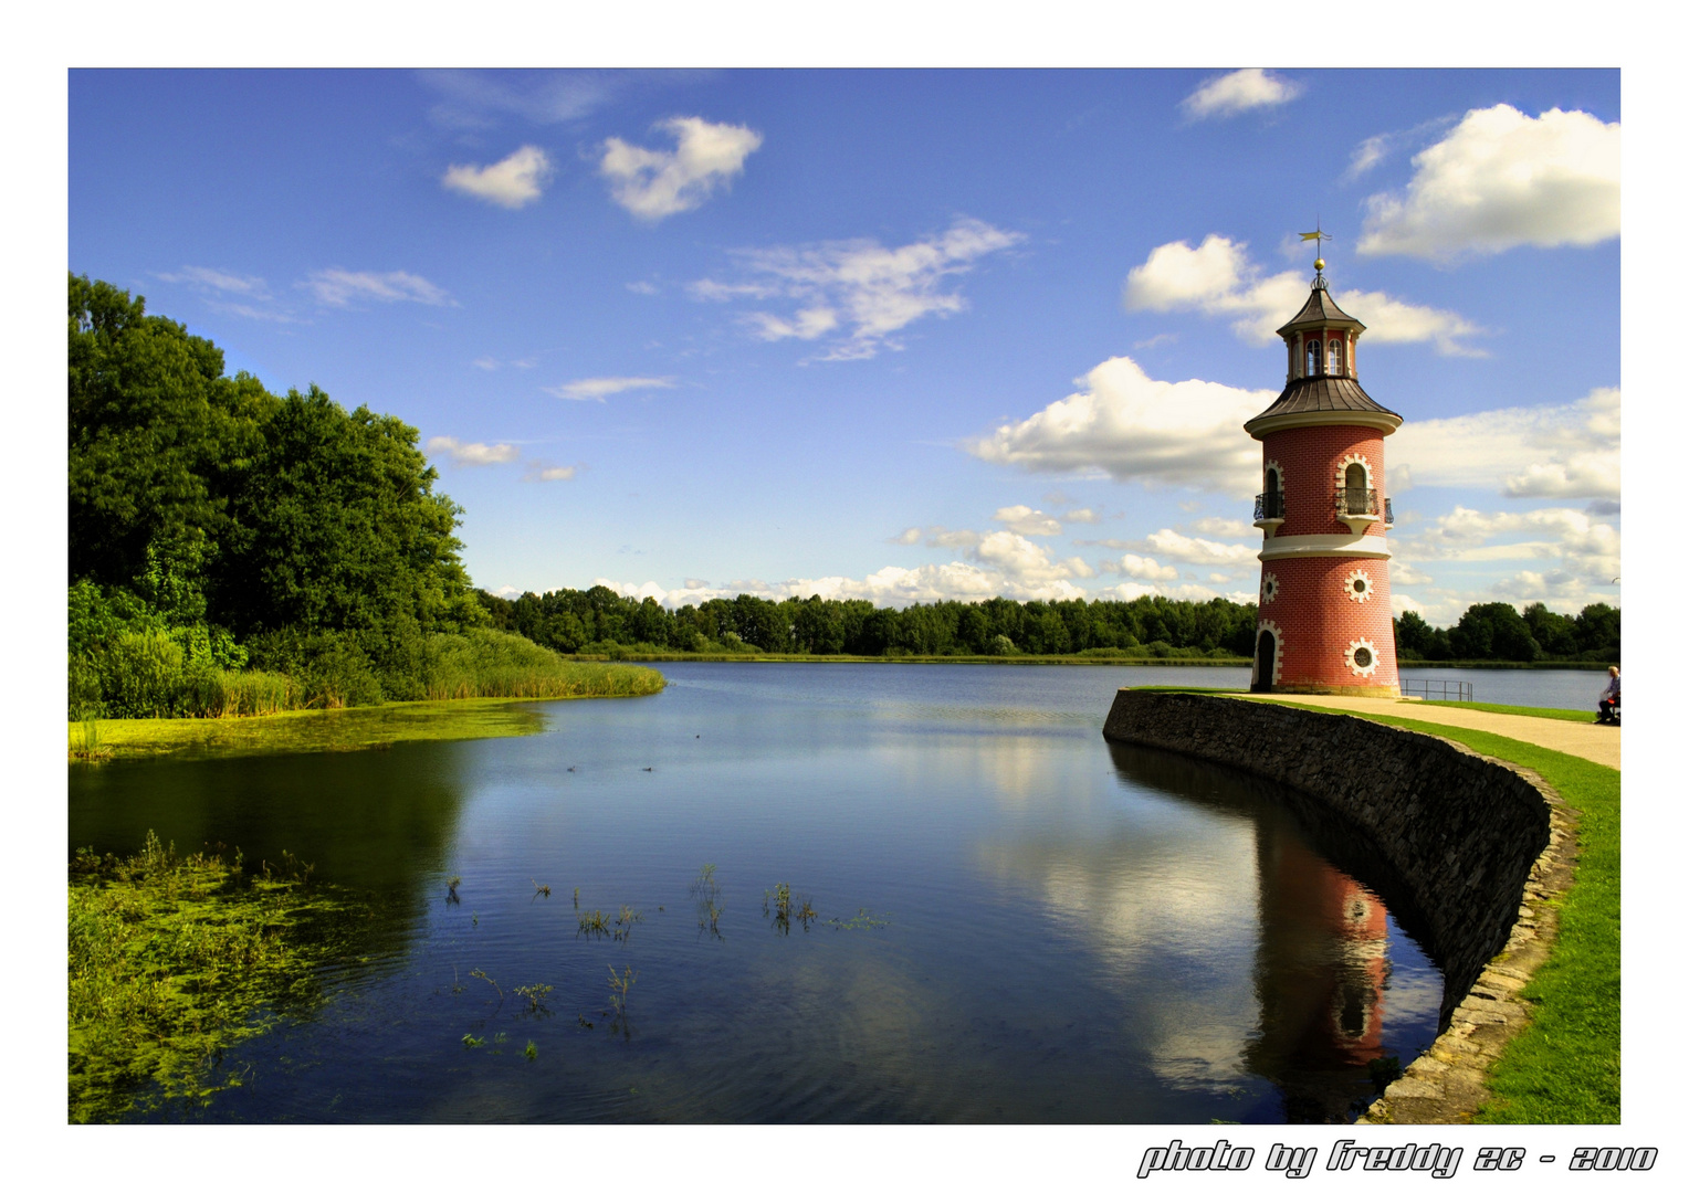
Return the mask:
[[[1368,324],[1397,607],[1618,601],[1618,71],[73,71],[69,268],[415,425],[491,591],[1252,599]]]

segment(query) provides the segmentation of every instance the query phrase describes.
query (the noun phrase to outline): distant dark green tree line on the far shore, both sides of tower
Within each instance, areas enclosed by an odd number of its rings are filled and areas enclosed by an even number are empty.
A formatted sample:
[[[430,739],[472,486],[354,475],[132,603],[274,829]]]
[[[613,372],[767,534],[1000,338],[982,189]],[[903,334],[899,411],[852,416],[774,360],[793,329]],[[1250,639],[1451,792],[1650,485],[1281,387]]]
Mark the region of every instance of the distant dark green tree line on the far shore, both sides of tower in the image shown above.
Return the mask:
[[[768,601],[743,594],[665,609],[652,597],[586,591],[478,591],[491,624],[561,653],[767,653],[900,656],[1079,655],[1101,658],[1248,658],[1255,604],[1170,601],[937,601],[904,609],[819,596]],[[1618,609],[1576,618],[1534,604],[1474,604],[1449,629],[1405,613],[1397,656],[1461,661],[1618,661]]]

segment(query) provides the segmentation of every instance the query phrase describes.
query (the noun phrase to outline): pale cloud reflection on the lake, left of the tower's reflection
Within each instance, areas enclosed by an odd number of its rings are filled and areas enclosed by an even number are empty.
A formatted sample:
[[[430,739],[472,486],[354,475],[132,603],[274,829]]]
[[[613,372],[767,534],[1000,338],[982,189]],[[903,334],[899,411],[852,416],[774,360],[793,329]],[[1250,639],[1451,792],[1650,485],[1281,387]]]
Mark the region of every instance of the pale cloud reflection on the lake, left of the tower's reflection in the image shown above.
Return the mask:
[[[1088,979],[1113,989],[1157,1077],[1233,1083],[1260,1021],[1255,825],[1189,807],[1162,817],[1159,803],[1135,803],[1106,835],[985,845],[980,866],[1008,898],[1037,898],[1089,957]]]

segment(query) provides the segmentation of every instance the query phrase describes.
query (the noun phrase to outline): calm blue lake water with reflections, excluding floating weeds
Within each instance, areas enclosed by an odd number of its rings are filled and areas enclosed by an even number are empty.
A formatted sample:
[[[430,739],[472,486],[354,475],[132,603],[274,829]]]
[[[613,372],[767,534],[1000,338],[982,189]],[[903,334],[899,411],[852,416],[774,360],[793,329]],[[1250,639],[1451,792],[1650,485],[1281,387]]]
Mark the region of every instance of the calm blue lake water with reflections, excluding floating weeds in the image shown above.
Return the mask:
[[[1226,672],[664,672],[530,737],[71,768],[73,847],[287,849],[372,910],[326,1002],[225,1056],[245,1085],[155,1117],[1329,1122],[1436,1034],[1365,864],[1268,785],[1103,741],[1115,688]]]

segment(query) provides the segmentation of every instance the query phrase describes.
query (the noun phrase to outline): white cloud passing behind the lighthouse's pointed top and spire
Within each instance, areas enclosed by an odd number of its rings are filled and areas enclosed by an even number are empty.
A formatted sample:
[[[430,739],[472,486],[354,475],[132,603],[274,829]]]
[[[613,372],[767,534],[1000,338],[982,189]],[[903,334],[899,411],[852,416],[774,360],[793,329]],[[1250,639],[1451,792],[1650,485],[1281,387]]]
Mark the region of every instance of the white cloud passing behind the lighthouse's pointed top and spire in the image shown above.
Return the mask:
[[[1230,317],[1253,344],[1275,344],[1282,327],[1307,302],[1309,278],[1295,270],[1263,275],[1248,245],[1209,233],[1201,245],[1170,241],[1127,275],[1127,310],[1199,310]],[[1333,290],[1343,310],[1366,324],[1371,344],[1432,343],[1444,354],[1473,354],[1464,341],[1481,329],[1453,310],[1422,307],[1378,290]]]

